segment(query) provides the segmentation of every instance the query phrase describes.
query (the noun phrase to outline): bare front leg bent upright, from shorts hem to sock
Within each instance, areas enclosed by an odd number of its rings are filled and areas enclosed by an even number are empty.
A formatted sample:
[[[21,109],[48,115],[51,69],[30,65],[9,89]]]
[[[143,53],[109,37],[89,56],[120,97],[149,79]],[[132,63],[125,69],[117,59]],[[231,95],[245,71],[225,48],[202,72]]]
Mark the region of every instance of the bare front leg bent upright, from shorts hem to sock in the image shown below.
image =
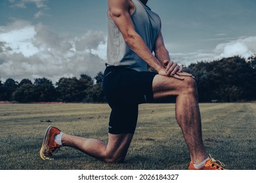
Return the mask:
[[[194,78],[187,76],[184,80],[178,80],[156,75],[153,80],[153,92],[154,99],[177,96],[175,111],[177,122],[181,126],[191,160],[194,163],[201,163],[207,158],[207,153],[203,146],[198,93]]]

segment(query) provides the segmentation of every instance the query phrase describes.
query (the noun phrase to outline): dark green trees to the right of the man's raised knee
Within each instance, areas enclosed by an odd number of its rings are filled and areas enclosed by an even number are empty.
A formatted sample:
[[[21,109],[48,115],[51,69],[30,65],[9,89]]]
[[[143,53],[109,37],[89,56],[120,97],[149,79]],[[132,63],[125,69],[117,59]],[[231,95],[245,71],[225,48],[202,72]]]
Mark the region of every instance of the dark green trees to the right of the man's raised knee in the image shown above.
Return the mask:
[[[251,62],[238,56],[191,64],[184,70],[196,76],[199,101],[255,100],[256,73]]]

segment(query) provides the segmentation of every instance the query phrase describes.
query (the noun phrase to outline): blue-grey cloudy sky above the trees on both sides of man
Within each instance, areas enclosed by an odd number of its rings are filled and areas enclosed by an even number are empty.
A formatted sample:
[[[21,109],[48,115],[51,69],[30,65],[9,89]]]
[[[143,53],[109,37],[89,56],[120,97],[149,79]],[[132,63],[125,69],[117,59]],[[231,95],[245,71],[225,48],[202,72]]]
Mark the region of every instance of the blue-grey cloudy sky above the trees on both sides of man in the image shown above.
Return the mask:
[[[171,58],[256,54],[255,0],[150,0]],[[0,0],[0,80],[104,71],[107,0]]]

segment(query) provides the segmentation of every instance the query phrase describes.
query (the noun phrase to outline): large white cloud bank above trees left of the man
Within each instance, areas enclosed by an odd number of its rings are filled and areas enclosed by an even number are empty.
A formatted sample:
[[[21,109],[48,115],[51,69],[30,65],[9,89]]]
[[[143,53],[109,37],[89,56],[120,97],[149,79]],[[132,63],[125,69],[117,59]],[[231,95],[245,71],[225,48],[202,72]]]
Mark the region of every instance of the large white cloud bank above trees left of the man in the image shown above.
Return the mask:
[[[70,38],[43,24],[18,25],[9,24],[0,32],[1,80],[46,77],[56,82],[63,76],[94,77],[104,70],[106,38],[102,32],[88,31],[82,37]]]

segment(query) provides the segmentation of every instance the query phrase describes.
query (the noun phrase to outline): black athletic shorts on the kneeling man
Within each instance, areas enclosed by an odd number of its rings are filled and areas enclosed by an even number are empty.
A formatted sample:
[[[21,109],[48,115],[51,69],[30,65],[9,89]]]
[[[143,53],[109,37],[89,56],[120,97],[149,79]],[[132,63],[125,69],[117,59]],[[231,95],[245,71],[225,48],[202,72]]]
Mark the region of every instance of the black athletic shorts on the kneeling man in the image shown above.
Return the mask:
[[[112,108],[109,133],[135,133],[139,104],[153,101],[152,82],[156,75],[126,67],[106,67],[103,90]]]

